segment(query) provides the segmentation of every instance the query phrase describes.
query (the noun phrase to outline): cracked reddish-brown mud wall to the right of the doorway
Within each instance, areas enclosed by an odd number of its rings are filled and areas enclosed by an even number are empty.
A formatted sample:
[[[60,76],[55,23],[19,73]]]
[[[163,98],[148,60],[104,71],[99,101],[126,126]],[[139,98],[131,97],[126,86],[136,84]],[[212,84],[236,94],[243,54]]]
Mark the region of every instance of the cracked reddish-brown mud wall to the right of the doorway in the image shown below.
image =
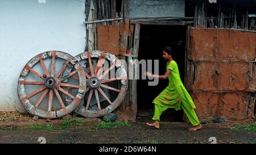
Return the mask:
[[[186,85],[201,117],[255,116],[256,33],[191,30]]]

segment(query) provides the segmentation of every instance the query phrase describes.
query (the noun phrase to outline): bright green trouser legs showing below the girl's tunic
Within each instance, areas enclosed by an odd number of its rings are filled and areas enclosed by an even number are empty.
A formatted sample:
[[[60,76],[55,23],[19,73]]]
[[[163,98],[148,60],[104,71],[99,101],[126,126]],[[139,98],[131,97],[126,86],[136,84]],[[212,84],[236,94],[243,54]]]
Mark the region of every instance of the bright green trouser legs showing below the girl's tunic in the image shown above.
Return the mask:
[[[189,120],[189,122],[193,125],[193,126],[196,126],[196,125],[199,125],[200,124],[200,121],[199,119],[197,118],[197,115],[196,115],[196,112],[195,110],[193,110],[191,107],[189,106],[186,106],[186,104],[181,104],[181,107],[183,108],[185,114],[187,115],[187,118]],[[159,106],[158,104],[155,104],[155,113],[154,113],[154,116],[152,118],[152,120],[155,120],[155,121],[160,121],[160,116],[162,115],[162,113],[164,111],[166,111],[169,107],[167,106]]]

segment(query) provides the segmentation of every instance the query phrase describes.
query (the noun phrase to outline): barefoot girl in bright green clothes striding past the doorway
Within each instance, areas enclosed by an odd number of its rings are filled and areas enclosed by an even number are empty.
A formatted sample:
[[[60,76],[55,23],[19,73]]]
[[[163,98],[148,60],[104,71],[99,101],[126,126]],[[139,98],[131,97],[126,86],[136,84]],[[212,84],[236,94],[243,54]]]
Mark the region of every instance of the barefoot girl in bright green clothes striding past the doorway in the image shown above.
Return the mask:
[[[175,110],[183,109],[189,122],[191,122],[193,125],[193,127],[189,128],[189,130],[197,131],[198,129],[202,128],[202,126],[194,110],[196,106],[180,79],[179,68],[177,63],[174,61],[173,56],[174,52],[172,51],[171,47],[164,48],[163,57],[168,61],[166,73],[162,76],[154,75],[149,72],[146,73],[148,77],[160,79],[168,78],[169,81],[166,89],[164,89],[162,93],[160,93],[158,97],[153,100],[153,103],[155,104],[155,112],[152,120],[155,120],[155,122],[146,124],[151,127],[159,128],[160,115],[164,111],[166,111],[168,108],[175,108]]]

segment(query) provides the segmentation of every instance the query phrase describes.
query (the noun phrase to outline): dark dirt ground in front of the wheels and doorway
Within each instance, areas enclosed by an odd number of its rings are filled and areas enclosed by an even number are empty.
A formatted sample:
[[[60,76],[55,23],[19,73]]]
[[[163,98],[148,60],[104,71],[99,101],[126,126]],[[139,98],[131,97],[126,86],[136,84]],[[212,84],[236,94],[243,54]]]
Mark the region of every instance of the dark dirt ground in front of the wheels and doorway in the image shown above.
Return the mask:
[[[5,116],[3,116],[5,115]],[[225,122],[225,123],[204,123],[203,128],[199,131],[188,131],[185,128],[190,124],[184,122],[167,122],[163,120],[160,129],[147,127],[146,122],[151,121],[151,117],[141,117],[135,123],[129,123],[129,126],[123,126],[112,129],[96,129],[95,126],[99,119],[84,119],[86,123],[80,128],[68,128],[60,131],[54,128],[51,131],[29,130],[26,127],[31,124],[52,124],[54,127],[63,119],[46,122],[43,119],[32,120],[29,115],[20,115],[13,113],[13,120],[4,120],[3,118],[12,118],[10,114],[0,114],[0,143],[35,143],[38,144],[39,137],[45,137],[46,143],[49,144],[79,144],[79,143],[127,143],[127,144],[163,144],[163,143],[211,143],[210,137],[216,138],[216,143],[246,143],[256,144],[255,132],[237,132],[230,128],[251,123],[251,120],[242,122]],[[16,115],[16,116],[15,116]],[[1,120],[2,119],[2,120]],[[6,129],[18,127],[19,129]],[[1,129],[2,128],[2,129]]]

